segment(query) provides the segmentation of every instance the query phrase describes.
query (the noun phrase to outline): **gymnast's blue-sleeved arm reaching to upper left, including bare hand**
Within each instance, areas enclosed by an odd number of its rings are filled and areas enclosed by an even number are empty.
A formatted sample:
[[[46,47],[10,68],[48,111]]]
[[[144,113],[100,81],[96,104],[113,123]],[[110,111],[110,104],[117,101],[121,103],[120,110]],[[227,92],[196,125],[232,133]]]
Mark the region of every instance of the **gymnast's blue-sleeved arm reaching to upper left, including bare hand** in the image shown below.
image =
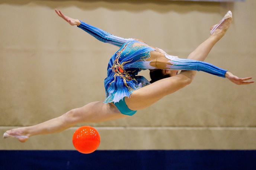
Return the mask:
[[[118,37],[115,35],[112,35],[102,29],[99,29],[95,26],[89,25],[83,21],[80,21],[78,19],[73,19],[68,16],[65,16],[60,10],[56,10],[55,12],[58,14],[58,16],[62,17],[65,21],[67,21],[70,25],[83,29],[93,37],[95,37],[97,40],[100,40],[101,42],[109,43],[118,47],[121,47],[124,43],[126,43],[128,40],[131,40],[131,38],[126,39],[122,37]]]

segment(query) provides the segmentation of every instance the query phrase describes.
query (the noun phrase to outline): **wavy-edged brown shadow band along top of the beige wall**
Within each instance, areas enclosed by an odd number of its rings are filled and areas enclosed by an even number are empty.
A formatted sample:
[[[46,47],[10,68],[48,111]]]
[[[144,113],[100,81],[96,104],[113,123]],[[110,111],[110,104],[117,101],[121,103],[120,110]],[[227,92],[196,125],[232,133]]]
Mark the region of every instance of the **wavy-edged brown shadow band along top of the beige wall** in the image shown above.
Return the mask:
[[[113,11],[125,10],[129,12],[141,12],[143,10],[153,10],[158,13],[175,11],[177,13],[187,13],[191,11],[205,13],[219,13],[219,7],[233,10],[233,2],[196,2],[196,1],[168,1],[168,0],[3,0],[0,4],[24,5],[36,4],[47,6],[52,9],[77,6],[83,10],[94,10],[97,8],[106,8]]]

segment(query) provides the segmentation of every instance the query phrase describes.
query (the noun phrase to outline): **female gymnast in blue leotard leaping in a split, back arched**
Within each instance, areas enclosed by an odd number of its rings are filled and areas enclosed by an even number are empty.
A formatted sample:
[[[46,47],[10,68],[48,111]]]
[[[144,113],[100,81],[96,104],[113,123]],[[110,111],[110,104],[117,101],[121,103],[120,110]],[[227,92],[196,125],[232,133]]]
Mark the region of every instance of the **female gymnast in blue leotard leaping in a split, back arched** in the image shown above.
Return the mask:
[[[208,53],[224,36],[232,21],[230,11],[210,29],[210,36],[199,45],[187,59],[168,55],[160,48],[154,48],[139,39],[125,39],[114,36],[78,19],[72,19],[55,12],[71,26],[76,25],[96,39],[118,46],[118,50],[108,63],[107,78],[104,81],[105,101],[91,102],[80,108],[71,109],[60,117],[37,125],[15,128],[6,131],[4,138],[17,138],[25,142],[29,137],[39,134],[57,133],[81,122],[101,122],[128,117],[139,109],[144,109],[186,85],[189,85],[196,71],[228,78],[238,85],[251,84],[252,77],[238,78],[227,70],[202,62]],[[151,81],[138,76],[141,70],[149,69]],[[181,70],[179,74],[177,72]]]

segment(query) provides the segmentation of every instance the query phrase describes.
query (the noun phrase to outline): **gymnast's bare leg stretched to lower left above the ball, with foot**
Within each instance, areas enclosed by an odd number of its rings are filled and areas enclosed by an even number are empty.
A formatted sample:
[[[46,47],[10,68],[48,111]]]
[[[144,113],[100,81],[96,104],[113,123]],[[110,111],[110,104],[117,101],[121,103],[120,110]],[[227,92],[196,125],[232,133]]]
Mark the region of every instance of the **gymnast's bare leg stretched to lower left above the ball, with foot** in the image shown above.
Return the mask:
[[[20,142],[25,142],[33,135],[58,133],[78,123],[101,122],[122,117],[127,115],[121,114],[113,104],[104,104],[103,101],[91,102],[40,124],[8,130],[4,138],[16,137]]]

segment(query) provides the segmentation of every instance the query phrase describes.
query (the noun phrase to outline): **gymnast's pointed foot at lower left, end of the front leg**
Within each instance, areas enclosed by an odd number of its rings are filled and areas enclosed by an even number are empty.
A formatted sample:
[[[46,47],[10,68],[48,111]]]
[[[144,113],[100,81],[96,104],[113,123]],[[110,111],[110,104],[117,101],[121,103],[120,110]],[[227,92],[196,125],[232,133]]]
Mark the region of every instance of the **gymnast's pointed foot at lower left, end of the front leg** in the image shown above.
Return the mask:
[[[20,142],[26,142],[29,135],[25,133],[24,128],[15,128],[12,130],[7,130],[3,134],[3,138],[17,138]]]

